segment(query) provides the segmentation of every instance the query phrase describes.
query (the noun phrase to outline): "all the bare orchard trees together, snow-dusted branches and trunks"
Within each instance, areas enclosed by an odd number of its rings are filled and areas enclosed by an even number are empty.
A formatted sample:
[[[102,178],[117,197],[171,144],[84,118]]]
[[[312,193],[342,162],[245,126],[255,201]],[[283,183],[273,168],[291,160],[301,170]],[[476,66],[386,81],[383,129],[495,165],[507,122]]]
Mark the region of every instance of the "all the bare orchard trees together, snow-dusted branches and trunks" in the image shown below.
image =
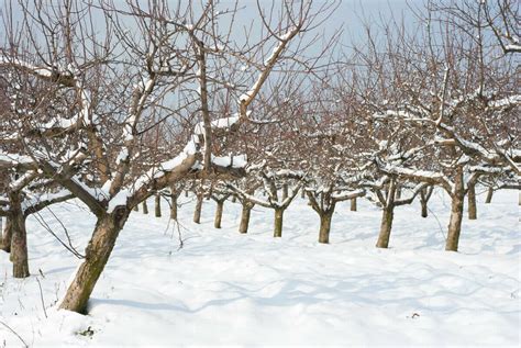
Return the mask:
[[[193,182],[199,210],[204,194],[221,212],[231,195],[243,204],[243,233],[254,205],[273,209],[276,237],[304,192],[321,243],[336,203],[366,195],[383,209],[378,247],[396,206],[419,197],[426,213],[440,187],[457,250],[476,184],[518,186],[519,4],[428,2],[418,23],[367,25],[350,49],[340,32],[308,34],[335,8],[258,2],[250,29],[239,2],[211,0],[2,11],[0,215],[13,276],[29,276],[26,217],[78,199],[97,223],[60,307],[85,313],[131,212]]]

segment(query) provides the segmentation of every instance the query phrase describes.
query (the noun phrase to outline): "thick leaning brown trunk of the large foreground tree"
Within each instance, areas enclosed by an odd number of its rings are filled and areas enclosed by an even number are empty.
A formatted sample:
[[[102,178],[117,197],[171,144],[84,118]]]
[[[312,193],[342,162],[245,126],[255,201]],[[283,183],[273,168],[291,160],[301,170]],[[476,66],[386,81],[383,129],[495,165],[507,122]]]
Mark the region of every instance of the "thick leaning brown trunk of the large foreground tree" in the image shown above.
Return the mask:
[[[92,237],[86,248],[86,258],[67,289],[64,301],[59,305],[60,308],[81,314],[87,313],[90,294],[128,218],[129,210],[125,207],[117,207],[113,213],[104,214],[98,218]]]

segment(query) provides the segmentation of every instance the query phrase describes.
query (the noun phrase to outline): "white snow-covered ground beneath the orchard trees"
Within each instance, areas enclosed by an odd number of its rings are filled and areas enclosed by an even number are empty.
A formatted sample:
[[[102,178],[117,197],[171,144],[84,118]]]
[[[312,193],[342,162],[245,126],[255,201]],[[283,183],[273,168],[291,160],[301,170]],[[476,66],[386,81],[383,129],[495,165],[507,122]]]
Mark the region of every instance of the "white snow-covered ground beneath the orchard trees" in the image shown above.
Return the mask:
[[[184,198],[179,231],[166,204],[162,218],[132,214],[87,316],[56,311],[79,260],[33,217],[33,276],[14,280],[0,254],[0,321],[27,345],[52,347],[519,346],[518,192],[498,192],[491,204],[478,199],[478,220],[464,221],[456,254],[443,250],[450,206],[441,192],[429,218],[418,203],[397,209],[387,250],[374,247],[380,212],[364,200],[358,212],[337,206],[331,244],[320,245],[318,215],[304,200],[289,207],[275,239],[271,211],[255,209],[251,232],[240,235],[239,204],[226,202],[223,228],[214,229],[215,205],[206,201],[197,225]],[[82,252],[92,216],[70,203],[52,209]],[[48,211],[42,216],[64,235]],[[3,324],[0,347],[22,345]]]

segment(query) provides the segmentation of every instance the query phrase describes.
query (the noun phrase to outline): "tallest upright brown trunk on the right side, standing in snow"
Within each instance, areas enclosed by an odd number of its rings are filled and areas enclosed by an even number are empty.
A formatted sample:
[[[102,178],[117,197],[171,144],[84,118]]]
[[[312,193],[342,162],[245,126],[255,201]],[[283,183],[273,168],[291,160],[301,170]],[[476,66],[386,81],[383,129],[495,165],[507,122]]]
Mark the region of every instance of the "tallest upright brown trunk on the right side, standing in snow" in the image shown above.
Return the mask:
[[[448,222],[447,240],[445,250],[457,251],[459,233],[462,231],[463,210],[465,204],[465,191],[463,187],[463,170],[458,170],[455,179],[454,192],[451,194],[451,221]]]

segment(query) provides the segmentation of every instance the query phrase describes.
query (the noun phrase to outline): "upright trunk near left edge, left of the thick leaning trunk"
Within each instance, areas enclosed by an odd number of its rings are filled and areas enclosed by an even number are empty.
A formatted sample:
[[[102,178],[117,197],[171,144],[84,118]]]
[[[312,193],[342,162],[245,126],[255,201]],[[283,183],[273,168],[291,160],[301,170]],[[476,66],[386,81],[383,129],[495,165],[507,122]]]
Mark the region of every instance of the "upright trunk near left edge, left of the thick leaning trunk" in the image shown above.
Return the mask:
[[[25,229],[25,215],[22,211],[22,202],[19,193],[9,195],[11,205],[11,261],[13,262],[13,277],[29,277],[27,261],[27,233]]]

